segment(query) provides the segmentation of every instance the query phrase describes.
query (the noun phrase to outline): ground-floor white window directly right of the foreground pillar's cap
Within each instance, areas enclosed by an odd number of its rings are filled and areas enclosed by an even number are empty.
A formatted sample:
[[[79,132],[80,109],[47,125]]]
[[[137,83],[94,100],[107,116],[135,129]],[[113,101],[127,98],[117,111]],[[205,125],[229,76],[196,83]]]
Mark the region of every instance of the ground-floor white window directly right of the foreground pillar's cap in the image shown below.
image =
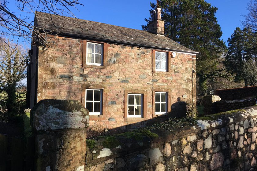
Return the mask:
[[[85,107],[89,115],[102,115],[102,89],[86,89]]]

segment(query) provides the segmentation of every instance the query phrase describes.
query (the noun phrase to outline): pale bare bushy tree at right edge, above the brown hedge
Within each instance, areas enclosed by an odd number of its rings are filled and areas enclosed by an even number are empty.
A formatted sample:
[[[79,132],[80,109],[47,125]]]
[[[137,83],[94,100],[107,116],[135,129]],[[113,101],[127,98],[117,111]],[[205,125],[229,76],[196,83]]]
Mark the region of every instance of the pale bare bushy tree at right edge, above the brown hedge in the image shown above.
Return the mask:
[[[247,80],[247,86],[257,84],[257,61],[248,60],[244,62],[240,71],[243,73],[244,78]]]

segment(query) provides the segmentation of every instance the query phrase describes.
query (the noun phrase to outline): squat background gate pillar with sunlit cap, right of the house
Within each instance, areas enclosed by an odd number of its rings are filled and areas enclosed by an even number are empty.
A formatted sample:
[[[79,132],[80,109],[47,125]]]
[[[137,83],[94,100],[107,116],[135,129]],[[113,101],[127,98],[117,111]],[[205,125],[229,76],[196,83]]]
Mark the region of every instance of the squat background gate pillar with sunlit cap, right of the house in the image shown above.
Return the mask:
[[[216,101],[220,101],[220,96],[217,95],[207,95],[203,97],[203,113],[204,115],[210,115],[215,113],[215,109],[213,108],[213,103]]]

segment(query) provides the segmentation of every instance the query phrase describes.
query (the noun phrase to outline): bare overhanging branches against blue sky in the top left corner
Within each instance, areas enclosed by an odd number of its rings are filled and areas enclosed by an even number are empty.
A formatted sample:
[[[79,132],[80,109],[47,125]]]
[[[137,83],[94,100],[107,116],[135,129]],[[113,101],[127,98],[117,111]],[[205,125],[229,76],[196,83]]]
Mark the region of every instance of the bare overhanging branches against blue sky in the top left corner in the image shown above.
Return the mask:
[[[30,43],[32,36],[38,39],[44,38],[42,33],[34,27],[34,18],[26,17],[35,11],[50,13],[51,15],[70,16],[76,18],[71,9],[75,5],[82,5],[79,0],[14,0],[10,4],[8,0],[0,0],[0,38],[9,37],[11,39],[23,38]],[[15,5],[18,12],[10,10],[10,5]],[[58,28],[55,32],[61,32]],[[47,34],[47,33],[45,33]],[[4,41],[4,39],[2,39]]]

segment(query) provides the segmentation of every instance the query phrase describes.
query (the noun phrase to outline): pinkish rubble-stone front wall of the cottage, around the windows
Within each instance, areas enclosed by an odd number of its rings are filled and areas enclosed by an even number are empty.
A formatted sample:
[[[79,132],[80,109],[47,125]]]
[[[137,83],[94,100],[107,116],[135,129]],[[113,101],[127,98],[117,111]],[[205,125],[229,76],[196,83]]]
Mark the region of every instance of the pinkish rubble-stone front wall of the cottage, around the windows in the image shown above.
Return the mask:
[[[180,100],[192,101],[190,57],[194,57],[193,55],[178,53],[176,58],[169,57],[171,60],[169,72],[153,72],[153,49],[108,44],[105,68],[82,67],[82,40],[48,37],[47,41],[52,42],[50,47],[39,47],[37,100],[81,101],[82,85],[101,85],[105,87],[107,96],[106,102],[103,102],[106,104],[105,116],[102,118],[90,116],[90,125],[125,129],[125,125],[139,122],[139,126],[144,126],[147,119],[156,117],[152,112],[152,97],[156,88],[168,89],[173,109]],[[125,121],[126,89],[147,91],[146,118]],[[186,99],[182,98],[184,94],[187,95]],[[171,106],[168,108],[170,111]]]

